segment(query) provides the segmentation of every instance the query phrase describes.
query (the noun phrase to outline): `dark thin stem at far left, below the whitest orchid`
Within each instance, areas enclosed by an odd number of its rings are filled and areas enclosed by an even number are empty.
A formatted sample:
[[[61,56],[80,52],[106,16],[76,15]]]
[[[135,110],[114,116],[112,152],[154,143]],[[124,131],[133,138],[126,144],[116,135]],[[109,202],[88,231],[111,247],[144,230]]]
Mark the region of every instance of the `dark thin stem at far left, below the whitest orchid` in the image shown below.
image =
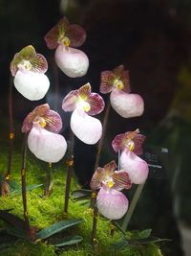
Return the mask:
[[[8,151],[8,167],[5,175],[5,180],[2,183],[2,196],[10,194],[10,179],[12,169],[12,147],[14,139],[13,117],[12,117],[12,78],[10,79],[10,91],[8,98],[8,111],[9,111],[9,151]]]

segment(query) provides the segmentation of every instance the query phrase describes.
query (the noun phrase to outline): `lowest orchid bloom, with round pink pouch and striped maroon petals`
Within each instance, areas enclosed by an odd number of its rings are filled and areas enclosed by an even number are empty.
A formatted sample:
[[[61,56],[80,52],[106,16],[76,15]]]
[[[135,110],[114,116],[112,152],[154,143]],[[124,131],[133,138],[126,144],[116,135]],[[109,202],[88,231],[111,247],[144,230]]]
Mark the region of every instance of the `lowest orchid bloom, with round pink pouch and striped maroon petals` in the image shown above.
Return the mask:
[[[123,217],[128,210],[128,199],[120,192],[131,188],[129,175],[124,171],[115,171],[117,164],[112,161],[103,168],[98,167],[91,180],[92,190],[98,190],[96,206],[99,212],[109,220]]]

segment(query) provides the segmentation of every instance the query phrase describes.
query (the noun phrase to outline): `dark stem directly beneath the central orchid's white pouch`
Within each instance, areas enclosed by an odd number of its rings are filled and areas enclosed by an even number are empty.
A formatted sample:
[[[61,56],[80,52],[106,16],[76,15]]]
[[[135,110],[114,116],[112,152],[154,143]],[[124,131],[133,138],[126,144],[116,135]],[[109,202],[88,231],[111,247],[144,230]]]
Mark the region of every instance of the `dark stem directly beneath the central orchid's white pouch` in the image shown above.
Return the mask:
[[[71,180],[74,171],[74,133],[71,130],[69,153],[66,161],[67,165],[67,177],[66,177],[66,190],[65,190],[65,201],[64,201],[64,214],[68,214],[69,196],[71,189]]]

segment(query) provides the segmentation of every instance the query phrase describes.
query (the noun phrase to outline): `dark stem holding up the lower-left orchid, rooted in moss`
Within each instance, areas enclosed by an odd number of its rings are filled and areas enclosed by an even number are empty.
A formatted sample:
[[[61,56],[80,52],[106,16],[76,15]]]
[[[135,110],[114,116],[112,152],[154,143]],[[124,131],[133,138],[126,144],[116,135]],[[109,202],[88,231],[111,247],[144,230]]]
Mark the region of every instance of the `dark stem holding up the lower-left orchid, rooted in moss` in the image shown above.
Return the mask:
[[[28,139],[28,133],[25,133],[24,140],[23,140],[22,155],[21,155],[21,183],[22,183],[22,198],[23,198],[25,228],[26,228],[26,232],[29,239],[32,240],[31,227],[30,227],[30,221],[29,221],[28,210],[27,210],[27,193],[26,193],[27,139]]]

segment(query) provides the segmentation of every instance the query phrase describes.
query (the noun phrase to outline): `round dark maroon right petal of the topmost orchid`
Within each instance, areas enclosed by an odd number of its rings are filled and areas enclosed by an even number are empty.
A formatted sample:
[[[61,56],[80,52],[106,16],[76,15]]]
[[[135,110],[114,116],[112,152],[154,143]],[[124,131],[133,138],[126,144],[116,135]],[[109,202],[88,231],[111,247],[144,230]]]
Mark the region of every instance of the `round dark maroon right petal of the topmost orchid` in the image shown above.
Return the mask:
[[[68,26],[66,36],[70,39],[70,46],[74,48],[81,46],[86,40],[85,30],[76,24]]]

